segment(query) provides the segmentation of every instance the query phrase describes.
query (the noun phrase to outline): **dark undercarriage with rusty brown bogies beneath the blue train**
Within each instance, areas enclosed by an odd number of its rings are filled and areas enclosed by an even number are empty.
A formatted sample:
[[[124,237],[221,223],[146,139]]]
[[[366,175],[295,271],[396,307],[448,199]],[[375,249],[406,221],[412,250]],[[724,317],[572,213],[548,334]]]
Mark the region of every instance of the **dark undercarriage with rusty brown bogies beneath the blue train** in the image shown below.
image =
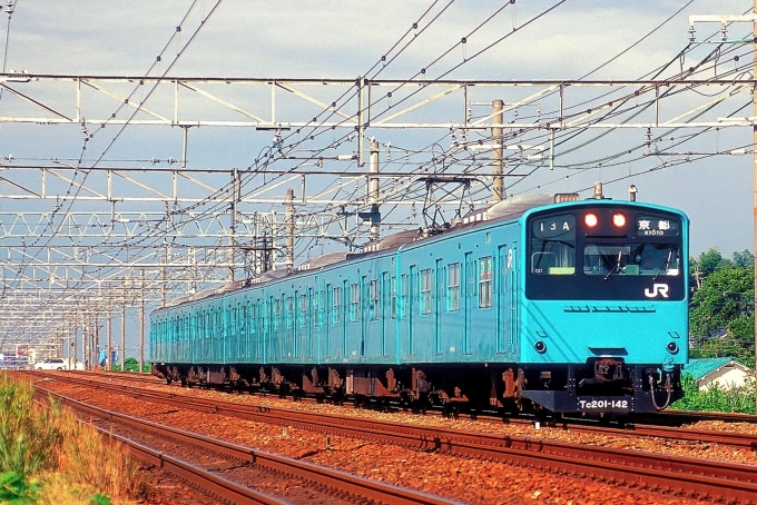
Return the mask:
[[[315,397],[337,404],[461,412],[630,415],[682,396],[680,370],[599,358],[583,365],[293,366],[154,364],[169,384]]]

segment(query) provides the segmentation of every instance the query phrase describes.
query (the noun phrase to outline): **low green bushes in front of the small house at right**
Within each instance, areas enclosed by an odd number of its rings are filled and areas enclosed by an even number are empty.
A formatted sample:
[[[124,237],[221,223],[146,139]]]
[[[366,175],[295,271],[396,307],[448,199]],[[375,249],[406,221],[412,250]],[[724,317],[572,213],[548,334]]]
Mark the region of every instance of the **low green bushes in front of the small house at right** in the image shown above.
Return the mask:
[[[677,410],[724,412],[739,414],[755,414],[755,382],[748,380],[738,389],[725,389],[714,384],[706,392],[700,392],[697,382],[690,374],[681,378],[684,397],[674,403],[670,408]]]

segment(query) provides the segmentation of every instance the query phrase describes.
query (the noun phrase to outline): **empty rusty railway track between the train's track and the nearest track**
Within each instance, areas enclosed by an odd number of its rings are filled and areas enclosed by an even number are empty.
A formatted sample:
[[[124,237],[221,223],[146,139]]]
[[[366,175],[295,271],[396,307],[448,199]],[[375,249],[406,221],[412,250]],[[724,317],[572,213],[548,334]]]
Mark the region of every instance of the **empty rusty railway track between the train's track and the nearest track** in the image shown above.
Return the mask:
[[[313,415],[299,410],[216,402],[166,392],[125,390],[122,386],[73,377],[62,378],[88,388],[126,394],[140,400],[236,416],[258,423],[294,426],[468,458],[515,463],[639,487],[674,489],[685,496],[710,496],[739,503],[757,501],[757,467],[753,465],[568,444],[543,438],[472,434],[427,426],[382,423],[375,419]],[[618,432],[627,435],[625,430]]]

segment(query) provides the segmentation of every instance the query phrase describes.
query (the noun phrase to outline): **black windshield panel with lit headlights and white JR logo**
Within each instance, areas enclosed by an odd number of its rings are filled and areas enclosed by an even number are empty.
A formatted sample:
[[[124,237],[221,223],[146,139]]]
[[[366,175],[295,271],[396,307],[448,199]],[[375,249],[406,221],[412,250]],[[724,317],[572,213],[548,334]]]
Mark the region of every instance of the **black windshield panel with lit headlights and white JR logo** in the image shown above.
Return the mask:
[[[686,296],[686,222],[672,212],[619,206],[534,215],[528,226],[531,299],[649,300]]]

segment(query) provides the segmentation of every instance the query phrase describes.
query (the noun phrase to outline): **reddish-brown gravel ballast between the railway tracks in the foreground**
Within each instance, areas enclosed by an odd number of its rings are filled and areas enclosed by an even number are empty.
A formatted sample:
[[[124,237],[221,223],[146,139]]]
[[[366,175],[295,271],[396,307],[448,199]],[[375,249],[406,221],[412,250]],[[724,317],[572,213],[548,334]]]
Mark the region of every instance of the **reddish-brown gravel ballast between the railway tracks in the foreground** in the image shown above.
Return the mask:
[[[108,378],[108,382],[120,383]],[[128,383],[124,383],[128,384]],[[42,385],[42,384],[40,384]],[[61,383],[43,382],[46,388],[57,390],[82,402],[91,403],[132,416],[144,417],[156,423],[194,430],[204,435],[235,442],[253,448],[301,458],[311,463],[352,472],[376,481],[389,482],[433,493],[469,504],[499,503],[549,503],[549,504],[700,504],[711,503],[709,499],[689,499],[662,492],[637,489],[619,486],[613,483],[597,483],[576,476],[542,472],[530,467],[508,465],[503,463],[465,459],[436,453],[423,453],[392,445],[381,445],[361,439],[337,436],[328,438],[318,433],[243,420],[217,414],[203,414],[193,410],[177,412],[175,407],[160,408],[156,404],[140,402],[127,396],[82,389],[79,386],[67,386]],[[135,387],[147,387],[135,384]],[[166,386],[153,386],[165,390]],[[269,396],[233,395],[212,390],[186,389],[171,387],[171,392],[190,396],[217,398],[227,402],[244,402],[254,405],[266,405],[279,408],[297,408],[309,412],[322,412],[365,418],[412,423],[435,427],[448,427],[461,430],[485,432],[528,436],[532,438],[551,438],[578,444],[592,444],[604,447],[617,447],[658,454],[675,454],[696,458],[720,459],[756,464],[757,455],[733,447],[720,447],[717,444],[696,442],[666,440],[658,438],[587,435],[566,432],[557,428],[479,423],[472,420],[445,419],[436,416],[413,416],[404,413],[383,414],[350,407],[337,407],[326,404],[294,403]],[[156,408],[157,407],[157,408]],[[697,429],[722,429],[717,422],[699,423]],[[734,426],[729,430],[755,433],[754,425]],[[171,488],[175,484],[167,484]],[[170,504],[169,497],[163,498],[160,487],[154,503]]]

